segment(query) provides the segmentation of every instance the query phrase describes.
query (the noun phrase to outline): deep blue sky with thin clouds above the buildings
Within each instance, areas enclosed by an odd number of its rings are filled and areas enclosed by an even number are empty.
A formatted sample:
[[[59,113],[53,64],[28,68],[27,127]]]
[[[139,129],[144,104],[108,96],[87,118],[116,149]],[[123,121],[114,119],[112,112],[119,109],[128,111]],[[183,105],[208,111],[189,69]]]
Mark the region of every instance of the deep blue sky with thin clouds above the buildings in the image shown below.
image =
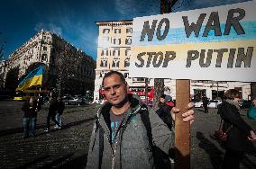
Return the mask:
[[[178,0],[175,11],[233,4],[245,0]],[[0,38],[5,56],[41,29],[59,34],[96,60],[95,22],[130,20],[160,13],[160,0],[2,0]]]

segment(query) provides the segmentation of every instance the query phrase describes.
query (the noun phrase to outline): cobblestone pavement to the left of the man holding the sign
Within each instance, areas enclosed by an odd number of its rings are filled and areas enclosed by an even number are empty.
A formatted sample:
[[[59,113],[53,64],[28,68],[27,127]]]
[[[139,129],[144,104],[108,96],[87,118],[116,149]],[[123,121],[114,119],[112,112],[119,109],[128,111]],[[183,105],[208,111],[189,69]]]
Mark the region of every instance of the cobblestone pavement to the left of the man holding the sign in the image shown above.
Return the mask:
[[[68,106],[61,130],[45,133],[47,108],[38,114],[36,138],[23,139],[23,102],[0,102],[0,168],[83,168],[96,106]],[[18,105],[16,105],[18,104]]]

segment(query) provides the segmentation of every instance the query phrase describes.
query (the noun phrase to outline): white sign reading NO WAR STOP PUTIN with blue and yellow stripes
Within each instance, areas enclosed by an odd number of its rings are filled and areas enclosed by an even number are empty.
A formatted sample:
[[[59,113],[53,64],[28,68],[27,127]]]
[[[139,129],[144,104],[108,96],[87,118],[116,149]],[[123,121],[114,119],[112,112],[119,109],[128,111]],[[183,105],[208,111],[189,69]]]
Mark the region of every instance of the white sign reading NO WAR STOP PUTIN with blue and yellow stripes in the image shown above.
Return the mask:
[[[133,19],[130,76],[256,82],[256,2]]]

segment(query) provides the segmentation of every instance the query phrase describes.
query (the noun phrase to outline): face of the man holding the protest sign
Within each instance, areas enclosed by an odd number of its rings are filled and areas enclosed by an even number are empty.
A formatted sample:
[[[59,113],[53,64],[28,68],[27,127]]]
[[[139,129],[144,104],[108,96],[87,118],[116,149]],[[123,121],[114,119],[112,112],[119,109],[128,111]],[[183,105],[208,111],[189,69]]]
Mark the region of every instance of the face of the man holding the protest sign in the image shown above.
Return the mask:
[[[119,104],[127,95],[126,84],[116,74],[104,79],[105,98],[112,104]]]

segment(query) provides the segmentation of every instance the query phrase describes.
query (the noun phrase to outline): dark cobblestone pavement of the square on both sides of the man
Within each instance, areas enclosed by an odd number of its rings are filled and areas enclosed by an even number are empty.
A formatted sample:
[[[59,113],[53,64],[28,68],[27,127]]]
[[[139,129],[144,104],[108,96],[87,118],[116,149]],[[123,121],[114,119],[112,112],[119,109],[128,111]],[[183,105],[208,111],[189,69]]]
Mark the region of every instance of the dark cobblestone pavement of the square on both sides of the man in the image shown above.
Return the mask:
[[[37,137],[23,139],[22,103],[0,101],[1,168],[83,168],[87,163],[88,142],[98,105],[67,106],[62,115],[63,129],[53,129],[51,122],[50,133],[43,132],[47,116],[47,107],[43,107],[38,115]],[[215,109],[207,114],[196,109],[196,114],[197,120],[191,129],[191,166],[195,169],[220,168],[224,149],[210,137],[218,128],[219,115]],[[242,117],[256,129],[256,120]],[[245,156],[242,168],[256,168],[255,152]]]

